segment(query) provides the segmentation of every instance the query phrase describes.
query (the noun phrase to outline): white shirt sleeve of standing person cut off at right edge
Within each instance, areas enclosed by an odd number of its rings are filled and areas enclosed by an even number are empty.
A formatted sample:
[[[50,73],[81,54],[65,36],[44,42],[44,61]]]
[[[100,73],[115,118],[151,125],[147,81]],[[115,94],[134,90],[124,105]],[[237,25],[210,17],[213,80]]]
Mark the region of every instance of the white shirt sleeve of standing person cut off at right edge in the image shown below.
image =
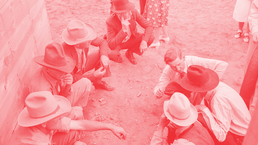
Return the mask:
[[[248,22],[253,35],[253,33],[258,32],[258,0],[253,1],[250,11]]]

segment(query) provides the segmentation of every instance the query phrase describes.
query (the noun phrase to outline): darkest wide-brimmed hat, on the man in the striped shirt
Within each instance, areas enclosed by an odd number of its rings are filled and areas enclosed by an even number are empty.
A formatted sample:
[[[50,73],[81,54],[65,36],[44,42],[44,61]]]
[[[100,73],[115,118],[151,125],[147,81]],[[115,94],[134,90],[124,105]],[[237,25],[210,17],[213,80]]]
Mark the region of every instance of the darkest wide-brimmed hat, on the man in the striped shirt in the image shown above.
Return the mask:
[[[208,92],[218,86],[218,74],[200,65],[190,65],[181,80],[181,86],[192,92]]]

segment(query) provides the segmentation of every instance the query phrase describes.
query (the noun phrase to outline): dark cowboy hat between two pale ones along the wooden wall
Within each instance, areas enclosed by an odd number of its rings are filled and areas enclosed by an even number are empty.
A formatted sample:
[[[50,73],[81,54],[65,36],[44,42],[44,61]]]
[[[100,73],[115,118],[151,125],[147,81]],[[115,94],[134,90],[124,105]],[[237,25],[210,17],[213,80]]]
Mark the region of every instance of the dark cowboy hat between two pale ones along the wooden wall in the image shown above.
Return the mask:
[[[59,43],[50,43],[46,46],[45,55],[34,58],[34,61],[44,67],[70,73],[75,67],[75,59],[64,54],[63,46]]]

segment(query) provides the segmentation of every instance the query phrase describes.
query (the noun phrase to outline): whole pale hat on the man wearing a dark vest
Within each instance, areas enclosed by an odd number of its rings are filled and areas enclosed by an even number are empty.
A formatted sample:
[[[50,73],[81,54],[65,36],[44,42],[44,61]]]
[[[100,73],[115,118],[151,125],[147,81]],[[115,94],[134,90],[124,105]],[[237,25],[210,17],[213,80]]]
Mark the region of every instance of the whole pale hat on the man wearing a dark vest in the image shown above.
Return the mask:
[[[182,93],[174,93],[170,100],[164,102],[164,112],[167,118],[176,125],[188,126],[198,117],[196,108]]]

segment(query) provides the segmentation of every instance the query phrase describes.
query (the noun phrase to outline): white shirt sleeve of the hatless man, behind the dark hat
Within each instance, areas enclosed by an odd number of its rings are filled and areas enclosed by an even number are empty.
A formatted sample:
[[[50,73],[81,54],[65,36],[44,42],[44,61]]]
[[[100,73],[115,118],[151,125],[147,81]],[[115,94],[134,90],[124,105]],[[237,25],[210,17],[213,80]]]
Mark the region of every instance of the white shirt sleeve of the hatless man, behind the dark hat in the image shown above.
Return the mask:
[[[215,71],[218,74],[219,78],[222,78],[223,74],[225,73],[229,65],[227,62],[224,62],[221,60],[201,58],[197,56],[192,57],[192,64],[201,65],[203,67],[206,67]]]

